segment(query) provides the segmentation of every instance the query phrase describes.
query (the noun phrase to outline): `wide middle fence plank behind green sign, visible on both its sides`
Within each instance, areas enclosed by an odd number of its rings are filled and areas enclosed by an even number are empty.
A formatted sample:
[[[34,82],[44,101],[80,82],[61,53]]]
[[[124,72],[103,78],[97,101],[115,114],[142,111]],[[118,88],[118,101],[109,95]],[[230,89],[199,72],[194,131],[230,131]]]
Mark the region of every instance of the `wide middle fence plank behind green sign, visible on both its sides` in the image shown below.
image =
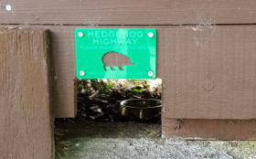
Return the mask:
[[[50,30],[56,117],[73,117],[74,30],[83,26],[39,27]],[[157,29],[157,77],[164,82],[163,113],[167,117],[256,117],[256,26],[150,27]]]

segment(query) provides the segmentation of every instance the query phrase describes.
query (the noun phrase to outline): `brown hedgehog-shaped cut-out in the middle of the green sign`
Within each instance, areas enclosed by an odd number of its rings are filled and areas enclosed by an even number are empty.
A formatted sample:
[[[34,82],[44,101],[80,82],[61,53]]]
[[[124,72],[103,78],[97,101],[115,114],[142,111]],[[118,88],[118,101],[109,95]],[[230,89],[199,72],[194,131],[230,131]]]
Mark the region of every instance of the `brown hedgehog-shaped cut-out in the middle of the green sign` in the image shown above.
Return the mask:
[[[115,66],[120,70],[124,70],[123,66],[135,65],[131,61],[131,58],[114,51],[105,53],[102,57],[102,62],[104,64],[105,71],[108,71],[106,67],[110,67],[112,70],[116,70],[112,68]]]

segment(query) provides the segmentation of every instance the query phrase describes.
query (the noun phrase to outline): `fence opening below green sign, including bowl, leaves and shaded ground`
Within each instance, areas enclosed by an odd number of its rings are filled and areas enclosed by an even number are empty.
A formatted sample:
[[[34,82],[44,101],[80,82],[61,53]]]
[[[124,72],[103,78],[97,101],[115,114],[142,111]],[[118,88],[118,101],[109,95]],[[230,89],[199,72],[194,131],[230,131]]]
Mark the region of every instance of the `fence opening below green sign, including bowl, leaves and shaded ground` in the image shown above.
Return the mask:
[[[95,139],[161,137],[162,80],[78,80],[77,86],[76,118],[55,122],[57,158],[77,155]]]

